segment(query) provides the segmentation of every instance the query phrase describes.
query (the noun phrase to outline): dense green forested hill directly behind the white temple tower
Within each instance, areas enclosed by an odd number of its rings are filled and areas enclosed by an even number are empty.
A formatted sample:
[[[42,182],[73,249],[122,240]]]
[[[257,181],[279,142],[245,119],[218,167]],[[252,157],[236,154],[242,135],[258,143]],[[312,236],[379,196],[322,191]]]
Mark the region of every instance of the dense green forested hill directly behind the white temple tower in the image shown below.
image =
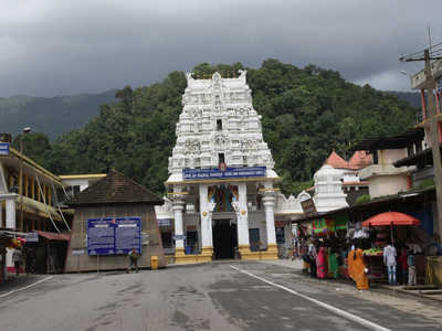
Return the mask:
[[[239,68],[240,63],[200,64],[193,73]],[[267,60],[257,70],[248,68],[248,83],[284,192],[298,191],[333,149],[349,157],[362,138],[399,134],[415,121],[415,109],[398,97],[314,65],[298,68]],[[118,103],[102,105],[84,128],[55,140],[44,153],[44,166],[55,173],[116,168],[162,192],[185,88],[185,74],[172,72],[161,83],[118,90]]]

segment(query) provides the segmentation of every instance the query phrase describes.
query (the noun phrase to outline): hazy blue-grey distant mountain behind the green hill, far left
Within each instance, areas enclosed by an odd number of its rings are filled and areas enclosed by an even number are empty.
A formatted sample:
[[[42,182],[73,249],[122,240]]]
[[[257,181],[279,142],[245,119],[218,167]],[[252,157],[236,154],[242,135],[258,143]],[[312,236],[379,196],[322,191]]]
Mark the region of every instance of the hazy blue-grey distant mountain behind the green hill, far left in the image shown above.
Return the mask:
[[[82,128],[98,114],[98,107],[115,102],[115,89],[101,94],[78,94],[53,98],[19,95],[0,97],[0,132],[15,136],[25,127],[44,132],[52,140]]]

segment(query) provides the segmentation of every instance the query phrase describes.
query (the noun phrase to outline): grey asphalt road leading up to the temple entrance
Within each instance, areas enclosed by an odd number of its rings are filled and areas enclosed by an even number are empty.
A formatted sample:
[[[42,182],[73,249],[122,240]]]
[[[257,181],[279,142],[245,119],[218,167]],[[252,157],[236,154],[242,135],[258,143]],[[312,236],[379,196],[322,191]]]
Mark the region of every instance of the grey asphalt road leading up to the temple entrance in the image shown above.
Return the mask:
[[[404,305],[262,263],[39,279],[0,288],[1,331],[442,330],[439,306]]]

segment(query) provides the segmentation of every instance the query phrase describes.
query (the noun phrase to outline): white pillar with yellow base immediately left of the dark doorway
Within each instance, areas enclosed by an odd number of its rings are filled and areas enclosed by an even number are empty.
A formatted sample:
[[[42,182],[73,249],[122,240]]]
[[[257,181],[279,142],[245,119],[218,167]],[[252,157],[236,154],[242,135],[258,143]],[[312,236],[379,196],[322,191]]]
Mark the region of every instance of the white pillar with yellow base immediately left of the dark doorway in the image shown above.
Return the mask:
[[[208,185],[200,184],[201,256],[199,260],[211,260],[213,255],[212,212],[215,203],[209,201]]]

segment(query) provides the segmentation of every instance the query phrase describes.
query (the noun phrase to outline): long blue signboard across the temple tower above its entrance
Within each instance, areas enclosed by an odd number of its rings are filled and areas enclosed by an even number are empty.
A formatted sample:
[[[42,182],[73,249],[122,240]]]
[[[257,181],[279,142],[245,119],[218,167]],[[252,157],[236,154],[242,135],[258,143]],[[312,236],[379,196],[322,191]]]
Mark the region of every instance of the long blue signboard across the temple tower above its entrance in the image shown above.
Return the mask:
[[[208,180],[229,178],[265,177],[265,167],[244,167],[220,169],[183,169],[183,180]]]

